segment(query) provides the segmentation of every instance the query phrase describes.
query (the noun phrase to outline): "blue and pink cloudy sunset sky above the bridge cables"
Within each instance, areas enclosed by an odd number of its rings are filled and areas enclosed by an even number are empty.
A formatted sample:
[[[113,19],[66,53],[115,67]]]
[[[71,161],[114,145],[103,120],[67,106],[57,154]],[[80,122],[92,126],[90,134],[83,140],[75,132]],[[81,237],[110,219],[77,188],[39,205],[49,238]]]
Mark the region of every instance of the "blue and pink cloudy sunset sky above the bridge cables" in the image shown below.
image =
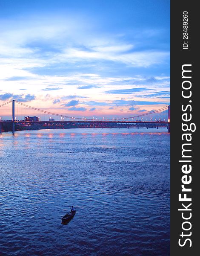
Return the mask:
[[[169,105],[170,1],[0,0],[0,105],[12,99],[98,118]]]

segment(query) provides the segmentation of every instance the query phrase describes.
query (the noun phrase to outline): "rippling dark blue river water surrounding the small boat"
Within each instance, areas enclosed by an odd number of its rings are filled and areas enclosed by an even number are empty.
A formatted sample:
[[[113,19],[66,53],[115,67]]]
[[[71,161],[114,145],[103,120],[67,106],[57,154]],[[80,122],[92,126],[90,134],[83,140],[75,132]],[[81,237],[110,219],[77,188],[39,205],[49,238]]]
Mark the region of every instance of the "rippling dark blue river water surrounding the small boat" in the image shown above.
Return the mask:
[[[3,133],[1,253],[169,255],[170,135],[135,131]],[[77,213],[62,225],[72,204]]]

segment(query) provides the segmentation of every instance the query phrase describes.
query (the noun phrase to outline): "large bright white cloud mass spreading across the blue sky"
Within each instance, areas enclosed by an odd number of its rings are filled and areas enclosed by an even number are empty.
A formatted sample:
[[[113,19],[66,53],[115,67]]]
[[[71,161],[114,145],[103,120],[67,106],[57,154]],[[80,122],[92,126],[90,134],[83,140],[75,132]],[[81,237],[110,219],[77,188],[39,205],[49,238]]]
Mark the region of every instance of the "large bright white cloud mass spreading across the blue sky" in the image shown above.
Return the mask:
[[[169,52],[166,51],[138,50],[138,38],[148,34],[145,31],[141,31],[141,34],[137,32],[135,43],[134,40],[126,40],[126,32],[123,35],[106,35],[99,33],[94,27],[95,24],[77,17],[30,17],[27,20],[4,21],[4,25],[0,25],[0,79],[4,93],[9,91],[19,94],[21,88],[27,88],[30,94],[43,100],[46,99],[46,94],[42,89],[62,88],[50,91],[49,98],[52,102],[57,96],[75,95],[78,86],[94,85],[92,89],[81,90],[82,96],[95,100],[105,98],[109,101],[111,96],[103,93],[104,87],[106,90],[130,89],[137,87],[137,81],[145,84],[146,79],[139,74],[129,76],[120,73],[120,68],[114,72],[115,64],[116,67],[146,68],[169,60]],[[154,30],[150,34],[155,35]],[[143,41],[140,44],[143,45]],[[113,64],[111,69],[110,62]],[[107,63],[106,67],[104,63]],[[74,67],[76,71],[73,70]],[[60,72],[62,69],[66,73]],[[110,73],[106,73],[107,69]],[[48,70],[52,70],[52,73],[47,72]],[[149,84],[149,88],[169,88],[169,77],[165,74],[152,76],[159,83]],[[13,81],[12,77],[19,79]],[[162,90],[166,90],[163,88]],[[137,96],[138,93],[134,95]],[[120,99],[120,95],[112,97]]]

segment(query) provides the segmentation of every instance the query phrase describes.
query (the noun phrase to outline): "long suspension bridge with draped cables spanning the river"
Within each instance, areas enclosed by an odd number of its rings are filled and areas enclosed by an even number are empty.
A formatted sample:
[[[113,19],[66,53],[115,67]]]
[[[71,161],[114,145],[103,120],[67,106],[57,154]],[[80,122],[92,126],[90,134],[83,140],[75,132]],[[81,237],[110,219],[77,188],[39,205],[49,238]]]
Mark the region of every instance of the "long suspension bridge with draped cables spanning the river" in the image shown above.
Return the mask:
[[[128,117],[113,117],[112,119],[103,117],[102,119],[87,118],[87,117],[74,117],[66,116],[63,114],[53,113],[39,108],[26,105],[23,102],[11,100],[0,105],[0,111],[4,106],[11,104],[10,111],[7,110],[11,119],[4,120],[0,117],[0,133],[2,133],[2,126],[8,125],[11,127],[11,131],[14,134],[16,126],[20,126],[27,129],[40,129],[40,128],[112,128],[112,127],[146,127],[146,128],[158,128],[166,127],[170,132],[170,105],[160,108],[158,110],[150,111],[136,116]],[[17,106],[17,117],[16,117]],[[19,110],[18,107],[23,108]],[[1,113],[1,112],[0,112]],[[21,113],[21,114],[20,114]],[[23,115],[22,115],[23,113]],[[20,116],[21,115],[21,116]],[[23,117],[24,116],[24,117]],[[73,125],[78,124],[78,127]]]

